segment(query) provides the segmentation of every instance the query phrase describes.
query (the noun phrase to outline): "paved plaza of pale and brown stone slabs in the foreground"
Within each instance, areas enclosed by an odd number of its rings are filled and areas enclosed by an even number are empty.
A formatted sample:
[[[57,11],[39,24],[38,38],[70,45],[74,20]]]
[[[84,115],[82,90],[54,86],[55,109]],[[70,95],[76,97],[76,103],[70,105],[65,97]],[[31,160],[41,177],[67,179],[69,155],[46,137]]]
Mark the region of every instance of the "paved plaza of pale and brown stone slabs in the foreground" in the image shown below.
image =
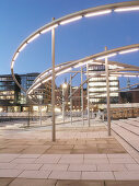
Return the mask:
[[[2,127],[0,186],[139,185],[139,153],[115,132],[108,137],[104,123],[59,125],[56,136],[51,142],[50,127]]]

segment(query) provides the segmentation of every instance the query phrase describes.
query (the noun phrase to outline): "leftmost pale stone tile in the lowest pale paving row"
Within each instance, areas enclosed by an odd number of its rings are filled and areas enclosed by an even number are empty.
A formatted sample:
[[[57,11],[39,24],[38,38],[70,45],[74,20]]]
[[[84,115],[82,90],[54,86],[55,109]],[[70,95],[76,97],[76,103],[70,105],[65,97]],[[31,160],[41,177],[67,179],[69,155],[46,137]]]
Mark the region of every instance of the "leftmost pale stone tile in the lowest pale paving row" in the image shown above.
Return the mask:
[[[21,173],[21,170],[0,170],[0,177],[16,177]]]

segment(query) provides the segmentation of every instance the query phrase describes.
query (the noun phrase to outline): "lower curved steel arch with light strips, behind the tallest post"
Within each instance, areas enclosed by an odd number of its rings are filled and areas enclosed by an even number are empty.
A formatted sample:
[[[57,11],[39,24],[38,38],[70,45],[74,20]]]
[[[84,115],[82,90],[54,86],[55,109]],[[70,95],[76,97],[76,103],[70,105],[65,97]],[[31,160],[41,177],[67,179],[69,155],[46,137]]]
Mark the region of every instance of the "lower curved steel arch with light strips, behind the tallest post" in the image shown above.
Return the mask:
[[[119,54],[120,55],[121,51],[131,51],[131,49],[132,49],[132,51],[135,49],[139,50],[139,44],[118,47],[118,48],[106,50],[106,51],[103,51],[103,53],[99,53],[99,54],[95,54],[95,55],[92,55],[92,56],[89,56],[89,57],[85,57],[85,58],[82,58],[82,59],[79,59],[79,60],[65,62],[65,66],[63,66],[63,63],[58,65],[56,68],[58,68],[58,67],[60,68],[60,66],[62,66],[62,67],[56,71],[56,77],[57,77],[58,73],[60,73],[60,71],[61,72],[63,71],[63,73],[66,73],[67,72],[66,69],[71,70],[78,63],[82,63],[82,65],[84,63],[85,65],[91,60],[92,60],[92,65],[93,65],[94,60],[95,60],[94,63],[100,63],[100,60],[96,60],[100,57],[111,56],[112,54]],[[104,63],[104,61],[101,61],[101,63]],[[120,63],[120,62],[109,62],[109,65],[117,66],[117,68],[118,68],[117,71],[125,71],[127,69],[130,70],[130,71],[139,71],[139,67],[137,67],[137,66],[125,65],[125,63]],[[126,69],[124,70],[124,68],[126,68]],[[51,69],[48,69],[45,72],[40,73],[38,75],[38,78],[36,78],[34,84],[27,90],[26,93],[30,94],[31,92],[33,92],[34,89],[38,88],[42,83],[45,83],[46,81],[50,80],[51,73],[49,71],[51,72]],[[116,71],[116,69],[114,71]],[[46,75],[44,75],[45,73],[46,73]]]

